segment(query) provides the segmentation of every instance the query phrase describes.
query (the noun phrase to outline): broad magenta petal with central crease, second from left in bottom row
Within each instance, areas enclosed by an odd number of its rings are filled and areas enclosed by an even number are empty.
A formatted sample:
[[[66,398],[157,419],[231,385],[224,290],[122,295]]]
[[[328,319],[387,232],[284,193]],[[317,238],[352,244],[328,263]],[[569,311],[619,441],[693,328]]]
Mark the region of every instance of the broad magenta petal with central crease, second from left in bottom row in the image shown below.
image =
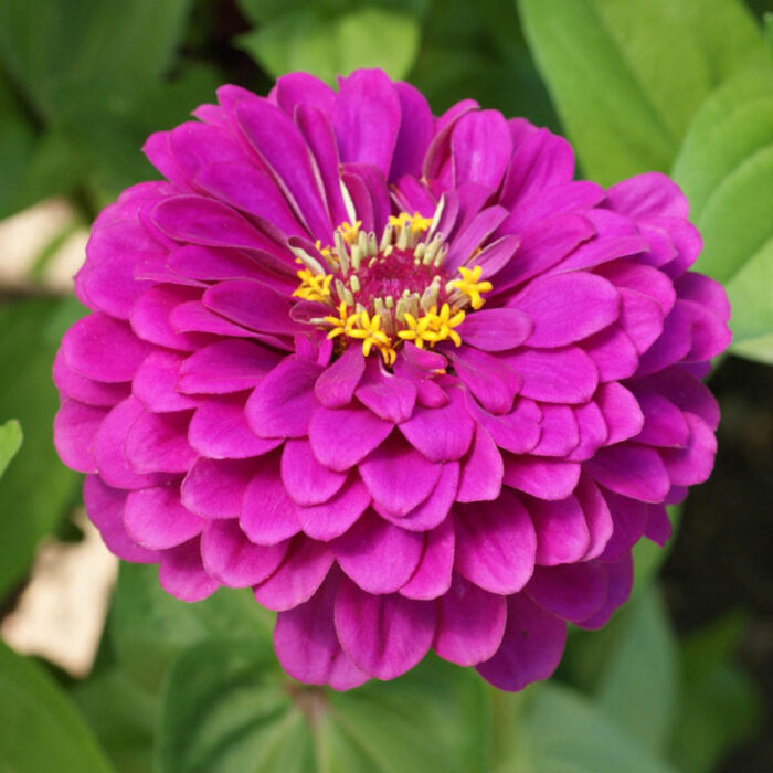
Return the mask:
[[[336,596],[336,632],[358,668],[377,679],[394,679],[430,650],[435,605],[398,594],[374,596],[343,580]]]

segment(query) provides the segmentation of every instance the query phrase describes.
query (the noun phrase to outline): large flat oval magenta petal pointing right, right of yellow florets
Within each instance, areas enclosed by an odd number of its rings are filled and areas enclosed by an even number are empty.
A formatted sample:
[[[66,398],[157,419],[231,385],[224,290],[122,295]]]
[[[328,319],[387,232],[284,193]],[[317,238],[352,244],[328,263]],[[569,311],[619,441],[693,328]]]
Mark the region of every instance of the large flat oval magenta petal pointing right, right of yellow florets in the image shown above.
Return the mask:
[[[532,320],[530,347],[553,349],[612,325],[620,314],[620,296],[606,279],[578,272],[532,282],[508,307]]]

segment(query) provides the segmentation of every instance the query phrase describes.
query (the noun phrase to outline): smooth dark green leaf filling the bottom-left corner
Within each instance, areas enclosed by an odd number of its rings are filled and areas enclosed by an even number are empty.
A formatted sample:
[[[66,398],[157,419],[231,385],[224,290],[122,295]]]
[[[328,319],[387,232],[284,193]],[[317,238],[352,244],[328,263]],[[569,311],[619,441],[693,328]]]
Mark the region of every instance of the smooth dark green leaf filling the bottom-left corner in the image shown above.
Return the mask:
[[[13,773],[112,770],[67,696],[40,666],[1,642],[0,767]]]

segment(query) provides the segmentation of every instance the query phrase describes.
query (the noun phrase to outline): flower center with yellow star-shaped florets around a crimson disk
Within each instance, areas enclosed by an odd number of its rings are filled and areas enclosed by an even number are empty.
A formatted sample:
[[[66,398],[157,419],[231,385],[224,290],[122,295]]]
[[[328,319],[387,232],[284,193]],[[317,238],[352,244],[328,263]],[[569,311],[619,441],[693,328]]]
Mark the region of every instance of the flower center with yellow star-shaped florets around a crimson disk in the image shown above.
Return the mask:
[[[361,231],[360,221],[341,223],[333,245],[317,242],[326,265],[294,250],[305,267],[293,295],[331,307],[331,314],[311,319],[328,330],[328,338],[342,348],[360,341],[366,357],[377,349],[386,364],[394,362],[402,341],[420,349],[445,340],[460,346],[455,328],[467,307],[484,305],[481,293],[491,283],[479,280],[480,266],[463,266],[460,278],[448,280],[443,271],[448,246],[435,233],[437,220],[402,212],[390,216],[380,240]]]

